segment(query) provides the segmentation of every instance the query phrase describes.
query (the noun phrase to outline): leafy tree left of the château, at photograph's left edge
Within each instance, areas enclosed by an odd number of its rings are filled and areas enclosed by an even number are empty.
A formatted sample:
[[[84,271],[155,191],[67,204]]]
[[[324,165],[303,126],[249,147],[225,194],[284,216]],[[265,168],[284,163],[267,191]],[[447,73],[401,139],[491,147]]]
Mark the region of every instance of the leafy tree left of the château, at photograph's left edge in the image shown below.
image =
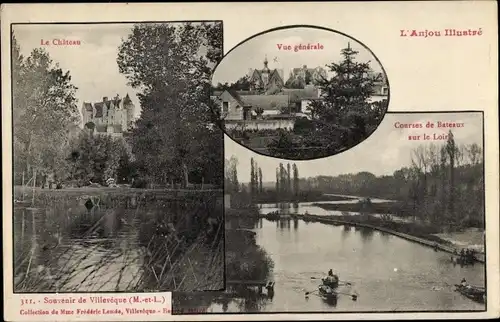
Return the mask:
[[[14,35],[12,58],[14,172],[64,177],[70,132],[79,122],[77,88],[44,49],[25,59]]]

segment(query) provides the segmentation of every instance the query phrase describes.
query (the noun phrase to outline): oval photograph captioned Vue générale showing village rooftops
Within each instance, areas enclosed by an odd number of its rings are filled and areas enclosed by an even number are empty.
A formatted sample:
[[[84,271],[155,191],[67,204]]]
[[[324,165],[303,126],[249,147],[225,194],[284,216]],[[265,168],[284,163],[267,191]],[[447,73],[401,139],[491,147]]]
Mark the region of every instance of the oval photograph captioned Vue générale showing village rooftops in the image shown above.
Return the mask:
[[[212,75],[212,110],[254,152],[323,158],[365,140],[382,121],[389,84],[357,40],[319,27],[285,27],[237,45]]]

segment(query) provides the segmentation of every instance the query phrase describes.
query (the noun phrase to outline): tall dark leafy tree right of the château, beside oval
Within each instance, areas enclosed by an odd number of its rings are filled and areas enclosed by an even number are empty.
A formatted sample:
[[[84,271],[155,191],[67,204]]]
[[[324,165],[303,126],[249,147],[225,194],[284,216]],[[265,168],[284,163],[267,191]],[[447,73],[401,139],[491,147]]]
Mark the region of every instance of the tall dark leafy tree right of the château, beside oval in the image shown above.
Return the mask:
[[[221,56],[220,23],[137,24],[120,45],[119,70],[140,91],[142,106],[132,147],[151,180],[173,178],[185,187],[192,172],[222,169],[223,133],[207,128],[210,74]],[[214,183],[222,178],[221,171]]]

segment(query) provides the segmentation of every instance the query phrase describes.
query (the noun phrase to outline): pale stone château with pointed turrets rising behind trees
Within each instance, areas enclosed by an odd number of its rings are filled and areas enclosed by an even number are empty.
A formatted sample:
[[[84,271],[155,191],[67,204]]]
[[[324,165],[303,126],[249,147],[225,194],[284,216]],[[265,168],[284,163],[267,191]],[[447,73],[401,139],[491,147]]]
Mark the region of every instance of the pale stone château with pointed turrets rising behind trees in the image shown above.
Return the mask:
[[[82,116],[85,127],[94,133],[123,136],[134,122],[135,105],[127,94],[123,99],[103,97],[101,102],[83,102]]]

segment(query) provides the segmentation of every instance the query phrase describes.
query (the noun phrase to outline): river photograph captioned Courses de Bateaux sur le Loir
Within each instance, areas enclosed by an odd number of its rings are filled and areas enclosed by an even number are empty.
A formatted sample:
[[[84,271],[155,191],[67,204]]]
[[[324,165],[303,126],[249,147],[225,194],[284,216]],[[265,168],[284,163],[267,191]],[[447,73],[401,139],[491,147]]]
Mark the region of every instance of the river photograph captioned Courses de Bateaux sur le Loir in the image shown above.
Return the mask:
[[[483,115],[388,113],[312,161],[226,138],[226,290],[174,314],[486,310]]]

